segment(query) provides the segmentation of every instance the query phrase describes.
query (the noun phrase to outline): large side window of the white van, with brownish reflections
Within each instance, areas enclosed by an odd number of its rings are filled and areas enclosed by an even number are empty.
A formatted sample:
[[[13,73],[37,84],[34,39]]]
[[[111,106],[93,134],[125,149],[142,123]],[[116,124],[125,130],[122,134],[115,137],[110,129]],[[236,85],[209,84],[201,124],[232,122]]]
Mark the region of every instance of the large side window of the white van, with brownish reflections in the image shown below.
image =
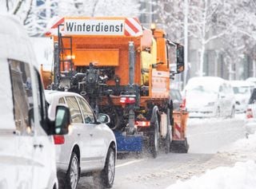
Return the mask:
[[[21,135],[34,131],[34,100],[30,77],[30,66],[22,61],[8,60],[14,100],[16,130]]]

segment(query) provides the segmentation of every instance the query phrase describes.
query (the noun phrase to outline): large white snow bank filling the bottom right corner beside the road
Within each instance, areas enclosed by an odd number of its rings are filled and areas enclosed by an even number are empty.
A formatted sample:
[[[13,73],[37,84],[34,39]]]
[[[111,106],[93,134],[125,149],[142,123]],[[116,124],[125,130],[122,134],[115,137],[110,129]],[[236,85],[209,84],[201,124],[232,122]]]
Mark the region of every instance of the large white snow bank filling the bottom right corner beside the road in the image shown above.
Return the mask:
[[[255,189],[256,163],[235,163],[234,167],[218,167],[201,177],[178,181],[166,189]]]

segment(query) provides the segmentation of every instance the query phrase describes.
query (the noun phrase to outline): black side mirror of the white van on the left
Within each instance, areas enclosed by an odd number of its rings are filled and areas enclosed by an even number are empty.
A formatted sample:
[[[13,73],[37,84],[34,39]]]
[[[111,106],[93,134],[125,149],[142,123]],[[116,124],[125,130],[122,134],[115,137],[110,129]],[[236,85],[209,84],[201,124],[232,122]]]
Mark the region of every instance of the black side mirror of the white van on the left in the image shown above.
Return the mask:
[[[56,107],[56,116],[54,124],[55,135],[66,135],[70,126],[70,109],[65,105]]]

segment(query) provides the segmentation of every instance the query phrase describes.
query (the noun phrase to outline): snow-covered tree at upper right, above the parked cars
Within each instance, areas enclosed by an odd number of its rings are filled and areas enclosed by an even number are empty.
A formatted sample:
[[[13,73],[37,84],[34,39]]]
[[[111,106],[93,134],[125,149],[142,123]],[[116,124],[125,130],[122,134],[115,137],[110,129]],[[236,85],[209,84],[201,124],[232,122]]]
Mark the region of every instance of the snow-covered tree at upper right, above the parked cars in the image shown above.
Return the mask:
[[[253,0],[158,0],[156,3],[158,20],[156,21],[166,28],[170,37],[181,41],[184,37],[185,2],[188,2],[189,7],[190,46],[198,44],[196,46],[200,58],[195,63],[198,63],[199,76],[203,75],[206,49],[213,41],[216,57],[218,54],[224,54],[224,61],[226,61],[224,64],[230,68],[232,65],[228,64],[234,64],[239,54],[247,52],[249,46],[254,47],[256,6]]]

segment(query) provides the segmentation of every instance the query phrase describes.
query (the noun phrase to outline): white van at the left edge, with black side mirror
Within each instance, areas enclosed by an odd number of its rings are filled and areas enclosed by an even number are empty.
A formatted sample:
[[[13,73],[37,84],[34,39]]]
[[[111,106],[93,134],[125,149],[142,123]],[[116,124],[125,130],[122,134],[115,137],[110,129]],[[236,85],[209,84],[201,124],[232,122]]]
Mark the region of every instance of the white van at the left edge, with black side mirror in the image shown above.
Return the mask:
[[[10,15],[0,23],[0,188],[58,188],[51,135],[68,132],[70,111],[48,119],[29,37]]]

